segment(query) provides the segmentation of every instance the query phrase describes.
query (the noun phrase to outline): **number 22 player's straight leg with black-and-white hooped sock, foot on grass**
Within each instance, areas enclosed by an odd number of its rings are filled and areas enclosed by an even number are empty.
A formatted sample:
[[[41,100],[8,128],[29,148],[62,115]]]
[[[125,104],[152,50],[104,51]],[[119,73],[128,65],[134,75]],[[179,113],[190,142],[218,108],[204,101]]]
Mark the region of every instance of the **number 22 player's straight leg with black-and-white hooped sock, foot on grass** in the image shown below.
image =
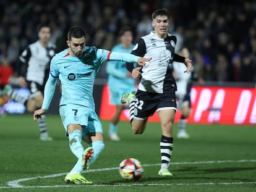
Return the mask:
[[[160,141],[161,152],[161,169],[158,175],[171,177],[173,174],[169,172],[169,162],[173,152],[173,123],[176,111],[174,109],[166,109],[158,111],[160,117],[162,136]]]

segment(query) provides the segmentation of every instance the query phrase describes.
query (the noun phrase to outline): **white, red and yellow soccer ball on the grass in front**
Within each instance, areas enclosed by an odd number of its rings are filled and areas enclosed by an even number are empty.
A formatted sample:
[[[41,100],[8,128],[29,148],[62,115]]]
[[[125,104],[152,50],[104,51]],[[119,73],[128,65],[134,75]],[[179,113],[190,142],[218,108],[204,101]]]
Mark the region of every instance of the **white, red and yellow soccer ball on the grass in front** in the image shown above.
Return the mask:
[[[119,165],[119,173],[125,180],[137,181],[142,177],[144,170],[137,159],[124,159]]]

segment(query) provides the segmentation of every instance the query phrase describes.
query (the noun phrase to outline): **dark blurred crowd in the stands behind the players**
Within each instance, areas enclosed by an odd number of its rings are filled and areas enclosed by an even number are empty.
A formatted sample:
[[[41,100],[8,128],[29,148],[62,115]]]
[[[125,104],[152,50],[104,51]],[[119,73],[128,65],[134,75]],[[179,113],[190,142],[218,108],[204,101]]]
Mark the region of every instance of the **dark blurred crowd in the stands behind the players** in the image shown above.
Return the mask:
[[[74,25],[84,28],[88,46],[110,50],[125,25],[134,30],[134,43],[147,35],[153,10],[162,7],[171,14],[176,51],[189,48],[195,71],[205,81],[256,81],[255,0],[1,0],[1,65],[15,76],[20,52],[38,39],[39,23],[51,26],[57,52],[67,47],[67,30]]]

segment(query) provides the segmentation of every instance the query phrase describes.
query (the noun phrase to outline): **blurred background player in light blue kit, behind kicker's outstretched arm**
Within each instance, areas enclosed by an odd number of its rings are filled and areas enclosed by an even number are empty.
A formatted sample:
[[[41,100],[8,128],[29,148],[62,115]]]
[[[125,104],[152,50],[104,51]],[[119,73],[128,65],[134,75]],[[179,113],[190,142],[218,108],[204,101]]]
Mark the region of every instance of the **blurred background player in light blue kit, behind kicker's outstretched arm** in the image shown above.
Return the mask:
[[[121,43],[114,46],[112,51],[117,52],[132,52],[134,44],[132,44],[133,35],[132,30],[129,27],[121,28],[119,31],[119,38]],[[117,127],[119,117],[121,115],[124,106],[120,98],[122,94],[135,91],[135,79],[132,78],[132,73],[126,69],[126,62],[121,61],[109,61],[106,67],[108,76],[108,87],[110,92],[110,102],[116,106],[116,112],[111,118],[109,123],[109,138],[113,141],[119,141],[120,138],[117,135]]]

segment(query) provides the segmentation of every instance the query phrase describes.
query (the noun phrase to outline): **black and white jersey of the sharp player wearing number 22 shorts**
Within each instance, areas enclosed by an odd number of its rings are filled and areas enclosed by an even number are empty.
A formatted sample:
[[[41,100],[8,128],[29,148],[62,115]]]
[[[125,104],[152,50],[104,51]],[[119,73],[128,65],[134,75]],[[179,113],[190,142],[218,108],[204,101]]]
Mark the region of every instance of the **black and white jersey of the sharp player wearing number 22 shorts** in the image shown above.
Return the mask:
[[[184,57],[174,53],[176,36],[168,33],[167,38],[158,38],[151,31],[135,44],[132,54],[140,57],[151,57],[151,61],[142,68],[139,90],[151,93],[168,93],[176,91],[173,78],[173,61],[184,62]]]

